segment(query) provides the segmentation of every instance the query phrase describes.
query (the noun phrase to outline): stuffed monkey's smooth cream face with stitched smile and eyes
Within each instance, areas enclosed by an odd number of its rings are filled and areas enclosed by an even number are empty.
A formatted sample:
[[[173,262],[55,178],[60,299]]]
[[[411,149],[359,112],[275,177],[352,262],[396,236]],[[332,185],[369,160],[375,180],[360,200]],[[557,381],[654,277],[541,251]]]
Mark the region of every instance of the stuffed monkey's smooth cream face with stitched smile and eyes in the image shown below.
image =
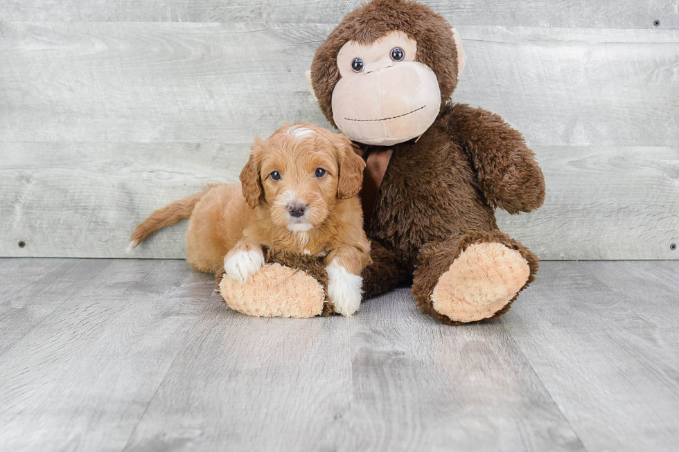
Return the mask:
[[[415,61],[417,43],[392,31],[371,44],[349,41],[337,55],[333,120],[351,140],[389,146],[423,134],[441,107],[439,81]]]

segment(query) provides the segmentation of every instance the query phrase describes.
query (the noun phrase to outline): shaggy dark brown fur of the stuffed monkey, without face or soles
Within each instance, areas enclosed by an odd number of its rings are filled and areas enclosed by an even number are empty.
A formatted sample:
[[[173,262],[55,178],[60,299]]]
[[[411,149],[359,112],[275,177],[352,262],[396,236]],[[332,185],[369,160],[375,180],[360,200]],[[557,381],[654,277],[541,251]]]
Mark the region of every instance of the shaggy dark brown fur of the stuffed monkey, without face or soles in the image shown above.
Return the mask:
[[[497,229],[494,208],[530,212],[543,204],[545,183],[519,132],[488,111],[448,100],[457,84],[455,42],[446,20],[419,3],[372,1],[349,13],[318,48],[312,86],[330,123],[335,125],[332,93],[340,79],[337,52],[349,40],[367,44],[393,30],[416,39],[416,60],[436,73],[441,113],[416,143],[393,146],[367,230],[373,264],[363,273],[364,296],[393,289],[413,273],[412,293],[421,311],[457,325],[434,309],[432,293],[471,244],[499,243],[518,251],[529,266],[520,290],[535,279],[537,257]],[[491,318],[504,314],[515,298]]]

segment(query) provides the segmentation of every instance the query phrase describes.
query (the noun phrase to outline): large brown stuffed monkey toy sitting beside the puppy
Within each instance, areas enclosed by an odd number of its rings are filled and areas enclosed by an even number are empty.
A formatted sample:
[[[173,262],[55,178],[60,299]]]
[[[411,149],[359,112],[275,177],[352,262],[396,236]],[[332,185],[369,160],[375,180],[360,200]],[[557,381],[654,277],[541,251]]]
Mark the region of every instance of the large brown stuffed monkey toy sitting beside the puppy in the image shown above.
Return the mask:
[[[494,209],[530,212],[545,199],[521,134],[450,101],[464,62],[457,30],[429,7],[373,0],[328,35],[307,74],[323,114],[367,163],[362,203],[373,264],[362,274],[364,300],[412,278],[421,311],[449,325],[497,318],[534,280],[536,255],[497,228]],[[302,270],[292,292],[320,293],[322,275],[288,264]],[[285,295],[291,270],[274,265],[262,271],[276,284],[253,278],[243,288],[225,278],[222,296],[247,314],[267,299],[283,307],[276,315],[299,316],[289,315],[294,300]],[[317,305],[310,315],[324,311]]]

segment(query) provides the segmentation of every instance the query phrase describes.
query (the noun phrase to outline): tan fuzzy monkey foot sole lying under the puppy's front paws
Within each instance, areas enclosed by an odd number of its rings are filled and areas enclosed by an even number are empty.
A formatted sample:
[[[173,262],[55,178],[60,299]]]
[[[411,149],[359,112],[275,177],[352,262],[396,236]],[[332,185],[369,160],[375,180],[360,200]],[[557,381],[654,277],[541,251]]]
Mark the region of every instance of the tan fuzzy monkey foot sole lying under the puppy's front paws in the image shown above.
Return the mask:
[[[255,317],[318,316],[325,300],[317,280],[281,264],[263,266],[244,284],[224,275],[219,289],[231,309]]]

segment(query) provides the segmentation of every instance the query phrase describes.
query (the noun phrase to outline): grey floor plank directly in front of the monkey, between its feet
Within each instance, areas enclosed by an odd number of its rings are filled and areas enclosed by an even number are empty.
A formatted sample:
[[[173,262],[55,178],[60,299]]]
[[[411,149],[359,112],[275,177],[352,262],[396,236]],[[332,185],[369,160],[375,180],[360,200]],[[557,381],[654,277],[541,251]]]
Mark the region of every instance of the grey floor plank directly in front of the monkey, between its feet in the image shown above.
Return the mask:
[[[441,325],[398,289],[349,327],[353,401],[317,449],[585,450],[500,325]]]

